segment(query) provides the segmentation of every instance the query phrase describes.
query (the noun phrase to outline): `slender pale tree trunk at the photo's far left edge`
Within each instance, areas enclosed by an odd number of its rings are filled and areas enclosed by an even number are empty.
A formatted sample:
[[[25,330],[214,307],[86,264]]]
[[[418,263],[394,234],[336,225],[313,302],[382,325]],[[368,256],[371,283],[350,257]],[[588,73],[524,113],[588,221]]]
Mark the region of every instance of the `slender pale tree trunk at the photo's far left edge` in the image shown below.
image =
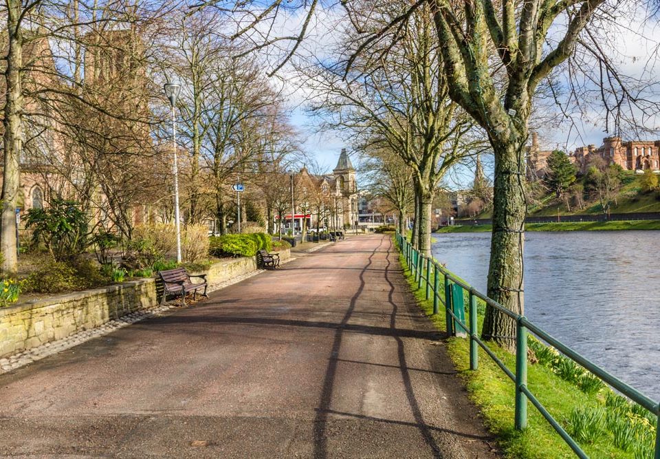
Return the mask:
[[[4,170],[2,182],[2,217],[0,231],[0,251],[3,255],[3,275],[14,275],[18,271],[16,213],[20,190],[21,150],[23,149],[23,94],[21,88],[21,66],[23,65],[23,35],[19,27],[21,2],[7,2],[7,29],[9,37],[5,81]]]

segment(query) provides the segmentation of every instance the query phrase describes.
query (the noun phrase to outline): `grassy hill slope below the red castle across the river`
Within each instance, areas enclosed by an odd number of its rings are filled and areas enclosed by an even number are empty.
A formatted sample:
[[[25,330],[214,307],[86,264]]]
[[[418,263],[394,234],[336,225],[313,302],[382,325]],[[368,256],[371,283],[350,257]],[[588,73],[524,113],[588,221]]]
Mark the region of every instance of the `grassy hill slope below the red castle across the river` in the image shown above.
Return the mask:
[[[632,171],[625,171],[623,184],[617,196],[617,203],[612,204],[610,213],[660,212],[660,191],[642,193],[639,180],[641,175]],[[584,184],[584,178],[578,178]],[[602,207],[597,199],[589,199],[584,195],[584,209],[571,206],[566,209],[564,200],[558,200],[554,193],[545,193],[536,199],[536,203],[529,206],[528,215],[531,217],[546,217],[556,215],[590,215],[602,213]],[[485,211],[477,218],[490,218],[492,211]]]

